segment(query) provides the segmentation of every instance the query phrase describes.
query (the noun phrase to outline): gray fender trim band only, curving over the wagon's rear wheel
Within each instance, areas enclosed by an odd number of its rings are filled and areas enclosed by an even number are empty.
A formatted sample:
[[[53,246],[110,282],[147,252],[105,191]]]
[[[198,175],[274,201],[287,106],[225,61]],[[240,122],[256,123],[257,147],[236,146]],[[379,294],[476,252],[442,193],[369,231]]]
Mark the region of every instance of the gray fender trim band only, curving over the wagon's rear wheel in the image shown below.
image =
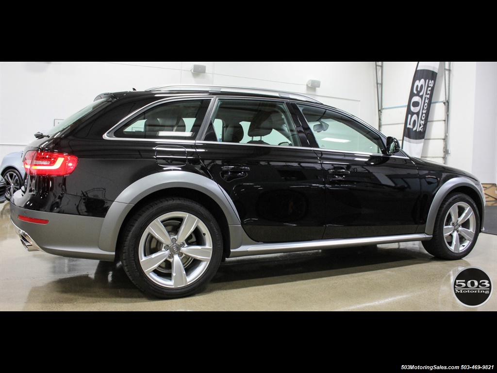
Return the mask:
[[[240,225],[240,217],[233,201],[216,182],[190,172],[165,171],[136,181],[118,195],[105,215],[98,240],[100,250],[115,251],[121,225],[136,203],[156,191],[175,187],[193,189],[208,195],[221,207],[229,225]]]

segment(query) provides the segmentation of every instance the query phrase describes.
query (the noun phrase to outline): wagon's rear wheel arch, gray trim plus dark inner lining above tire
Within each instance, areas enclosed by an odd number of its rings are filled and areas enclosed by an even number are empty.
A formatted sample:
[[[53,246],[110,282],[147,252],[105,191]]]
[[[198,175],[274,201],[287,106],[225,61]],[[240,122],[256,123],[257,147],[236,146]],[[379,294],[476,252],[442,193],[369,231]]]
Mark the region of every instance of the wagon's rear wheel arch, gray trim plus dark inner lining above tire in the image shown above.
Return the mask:
[[[184,171],[149,175],[124,189],[104,218],[99,248],[117,254],[119,237],[128,219],[147,203],[164,197],[188,198],[206,207],[221,227],[224,254],[229,256],[230,226],[240,225],[232,200],[213,180]]]

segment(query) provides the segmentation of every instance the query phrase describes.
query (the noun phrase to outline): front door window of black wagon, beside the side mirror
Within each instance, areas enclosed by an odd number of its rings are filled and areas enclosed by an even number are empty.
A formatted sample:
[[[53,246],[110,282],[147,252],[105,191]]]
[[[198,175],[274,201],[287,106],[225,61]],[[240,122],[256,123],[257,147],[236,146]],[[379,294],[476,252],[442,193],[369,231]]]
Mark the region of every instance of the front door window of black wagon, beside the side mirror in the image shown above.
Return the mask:
[[[381,137],[365,125],[321,107],[298,105],[320,148],[382,153]]]

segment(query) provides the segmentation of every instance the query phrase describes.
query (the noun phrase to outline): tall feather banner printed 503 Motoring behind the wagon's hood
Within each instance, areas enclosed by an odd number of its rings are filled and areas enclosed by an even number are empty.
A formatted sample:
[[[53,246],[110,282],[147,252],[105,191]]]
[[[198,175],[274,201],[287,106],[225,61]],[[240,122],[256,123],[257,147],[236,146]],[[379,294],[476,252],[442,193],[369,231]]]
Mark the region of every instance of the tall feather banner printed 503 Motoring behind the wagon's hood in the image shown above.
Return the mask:
[[[418,62],[404,121],[402,149],[421,157],[439,62]]]

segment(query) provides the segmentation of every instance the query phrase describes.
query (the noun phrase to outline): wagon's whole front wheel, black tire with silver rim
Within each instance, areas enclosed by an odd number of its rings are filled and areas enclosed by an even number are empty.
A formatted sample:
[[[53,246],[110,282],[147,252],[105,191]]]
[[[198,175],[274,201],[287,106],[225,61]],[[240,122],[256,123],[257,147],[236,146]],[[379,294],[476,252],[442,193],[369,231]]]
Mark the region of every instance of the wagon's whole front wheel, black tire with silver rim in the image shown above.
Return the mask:
[[[480,213],[475,201],[463,193],[449,194],[442,202],[433,227],[433,238],[423,241],[431,255],[448,260],[467,256],[480,234]]]

